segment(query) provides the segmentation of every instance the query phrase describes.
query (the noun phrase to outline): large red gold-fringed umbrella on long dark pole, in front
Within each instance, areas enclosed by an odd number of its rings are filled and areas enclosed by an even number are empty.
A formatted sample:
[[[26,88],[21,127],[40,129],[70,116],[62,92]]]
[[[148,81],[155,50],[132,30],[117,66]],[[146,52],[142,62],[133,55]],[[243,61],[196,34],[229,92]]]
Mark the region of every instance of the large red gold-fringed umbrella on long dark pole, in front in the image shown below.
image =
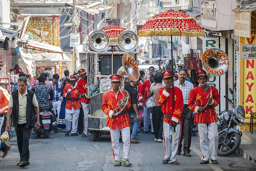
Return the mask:
[[[141,36],[171,36],[171,44],[173,44],[172,36],[206,36],[204,30],[189,15],[172,10],[154,15],[148,20],[138,31]],[[172,77],[173,77],[173,46],[171,46],[172,58]],[[173,79],[172,79],[172,85]],[[174,108],[174,89],[173,90],[173,108]],[[175,127],[174,127],[175,128]]]

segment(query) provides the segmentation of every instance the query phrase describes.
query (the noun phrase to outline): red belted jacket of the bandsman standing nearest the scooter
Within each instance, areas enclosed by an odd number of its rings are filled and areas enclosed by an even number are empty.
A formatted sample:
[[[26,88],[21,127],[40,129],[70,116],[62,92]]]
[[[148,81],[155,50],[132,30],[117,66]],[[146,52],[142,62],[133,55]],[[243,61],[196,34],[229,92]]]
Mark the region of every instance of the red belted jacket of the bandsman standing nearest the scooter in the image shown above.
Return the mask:
[[[79,89],[76,87],[77,83],[75,84],[75,87],[71,88],[71,84],[67,84],[63,90],[63,96],[67,98],[67,103],[66,103],[66,109],[71,110],[72,107],[74,110],[82,107],[80,102],[78,101],[79,99]],[[67,95],[68,89],[71,89],[72,92]]]

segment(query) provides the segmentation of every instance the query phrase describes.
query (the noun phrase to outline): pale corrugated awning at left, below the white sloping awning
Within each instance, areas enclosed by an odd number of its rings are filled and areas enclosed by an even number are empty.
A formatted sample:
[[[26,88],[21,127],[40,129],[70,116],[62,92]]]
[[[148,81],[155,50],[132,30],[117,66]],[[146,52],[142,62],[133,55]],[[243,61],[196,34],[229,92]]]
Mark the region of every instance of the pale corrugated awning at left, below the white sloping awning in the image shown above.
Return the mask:
[[[25,53],[28,57],[35,61],[71,61],[66,54],[62,53]]]

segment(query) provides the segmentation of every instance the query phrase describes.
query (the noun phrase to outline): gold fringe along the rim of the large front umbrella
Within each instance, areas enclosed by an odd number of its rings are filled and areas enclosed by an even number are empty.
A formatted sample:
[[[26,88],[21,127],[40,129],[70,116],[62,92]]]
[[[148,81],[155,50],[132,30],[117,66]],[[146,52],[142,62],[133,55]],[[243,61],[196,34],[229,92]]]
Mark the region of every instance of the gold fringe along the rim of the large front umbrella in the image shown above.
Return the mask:
[[[142,33],[139,33],[139,37],[143,36],[180,36],[180,31],[173,31],[173,30],[151,30],[151,31],[143,31]],[[196,37],[196,36],[206,36],[203,32],[189,32],[189,31],[181,31],[182,36],[186,37]]]

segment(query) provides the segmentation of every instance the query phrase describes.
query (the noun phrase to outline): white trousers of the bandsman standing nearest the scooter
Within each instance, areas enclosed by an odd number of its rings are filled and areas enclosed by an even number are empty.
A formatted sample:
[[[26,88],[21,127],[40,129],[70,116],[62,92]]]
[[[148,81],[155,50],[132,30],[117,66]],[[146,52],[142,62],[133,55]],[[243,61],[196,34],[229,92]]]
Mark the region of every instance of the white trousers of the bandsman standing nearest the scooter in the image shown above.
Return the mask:
[[[65,115],[66,130],[70,131],[71,130],[71,126],[72,126],[71,134],[77,133],[79,113],[80,113],[80,109],[79,108],[76,109],[76,110],[74,110],[73,107],[72,107],[71,110],[66,109],[66,115]]]

